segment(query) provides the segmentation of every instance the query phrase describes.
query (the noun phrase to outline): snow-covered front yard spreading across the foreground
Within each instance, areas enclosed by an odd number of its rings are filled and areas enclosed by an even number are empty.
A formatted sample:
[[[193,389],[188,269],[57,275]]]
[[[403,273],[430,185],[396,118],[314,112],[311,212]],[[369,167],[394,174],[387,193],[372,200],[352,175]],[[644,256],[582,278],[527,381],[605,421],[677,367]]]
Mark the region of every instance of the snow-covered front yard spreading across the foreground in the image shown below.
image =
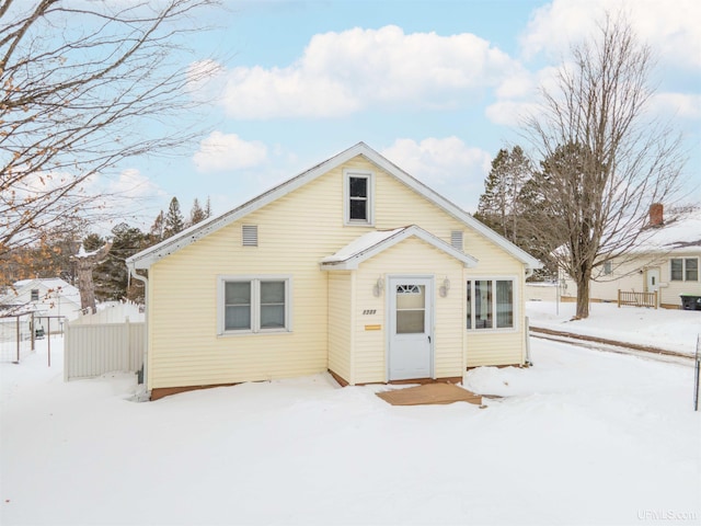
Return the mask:
[[[0,364],[2,525],[701,524],[689,366],[533,339],[466,376],[485,409],[327,375],[137,403],[134,375],[65,384],[60,344]]]

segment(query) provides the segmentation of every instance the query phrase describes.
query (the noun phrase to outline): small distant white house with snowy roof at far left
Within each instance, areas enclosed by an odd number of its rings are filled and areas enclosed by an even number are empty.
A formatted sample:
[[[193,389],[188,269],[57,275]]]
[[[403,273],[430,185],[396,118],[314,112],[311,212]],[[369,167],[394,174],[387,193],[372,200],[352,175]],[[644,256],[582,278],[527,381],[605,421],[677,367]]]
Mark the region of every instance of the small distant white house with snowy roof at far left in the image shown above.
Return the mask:
[[[80,291],[58,277],[16,282],[0,297],[0,316],[34,311],[36,316],[80,316]]]

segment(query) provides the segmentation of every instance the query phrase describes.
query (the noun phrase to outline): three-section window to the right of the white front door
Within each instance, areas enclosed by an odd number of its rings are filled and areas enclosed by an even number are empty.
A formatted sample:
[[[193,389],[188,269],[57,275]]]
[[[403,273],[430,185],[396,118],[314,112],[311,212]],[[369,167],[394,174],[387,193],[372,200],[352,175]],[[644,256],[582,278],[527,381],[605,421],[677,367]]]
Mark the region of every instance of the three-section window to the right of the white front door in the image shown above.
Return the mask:
[[[514,279],[470,279],[467,283],[468,329],[513,329]]]

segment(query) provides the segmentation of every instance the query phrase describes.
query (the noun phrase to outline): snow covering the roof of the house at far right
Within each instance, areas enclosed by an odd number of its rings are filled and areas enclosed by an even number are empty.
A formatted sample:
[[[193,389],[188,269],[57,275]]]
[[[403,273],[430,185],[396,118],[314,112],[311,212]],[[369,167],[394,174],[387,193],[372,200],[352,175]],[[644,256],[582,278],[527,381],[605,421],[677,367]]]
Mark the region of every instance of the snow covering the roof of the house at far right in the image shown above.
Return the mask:
[[[700,252],[701,208],[686,210],[642,236],[633,252]]]

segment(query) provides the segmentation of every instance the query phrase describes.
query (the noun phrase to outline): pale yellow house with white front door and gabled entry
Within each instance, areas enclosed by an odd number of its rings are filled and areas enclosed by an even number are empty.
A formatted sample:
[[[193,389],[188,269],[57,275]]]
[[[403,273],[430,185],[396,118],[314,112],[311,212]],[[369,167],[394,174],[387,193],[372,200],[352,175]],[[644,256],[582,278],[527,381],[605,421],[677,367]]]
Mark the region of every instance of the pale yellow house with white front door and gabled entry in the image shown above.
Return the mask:
[[[527,362],[540,263],[360,142],[127,260],[151,399],[317,374],[459,379]]]

